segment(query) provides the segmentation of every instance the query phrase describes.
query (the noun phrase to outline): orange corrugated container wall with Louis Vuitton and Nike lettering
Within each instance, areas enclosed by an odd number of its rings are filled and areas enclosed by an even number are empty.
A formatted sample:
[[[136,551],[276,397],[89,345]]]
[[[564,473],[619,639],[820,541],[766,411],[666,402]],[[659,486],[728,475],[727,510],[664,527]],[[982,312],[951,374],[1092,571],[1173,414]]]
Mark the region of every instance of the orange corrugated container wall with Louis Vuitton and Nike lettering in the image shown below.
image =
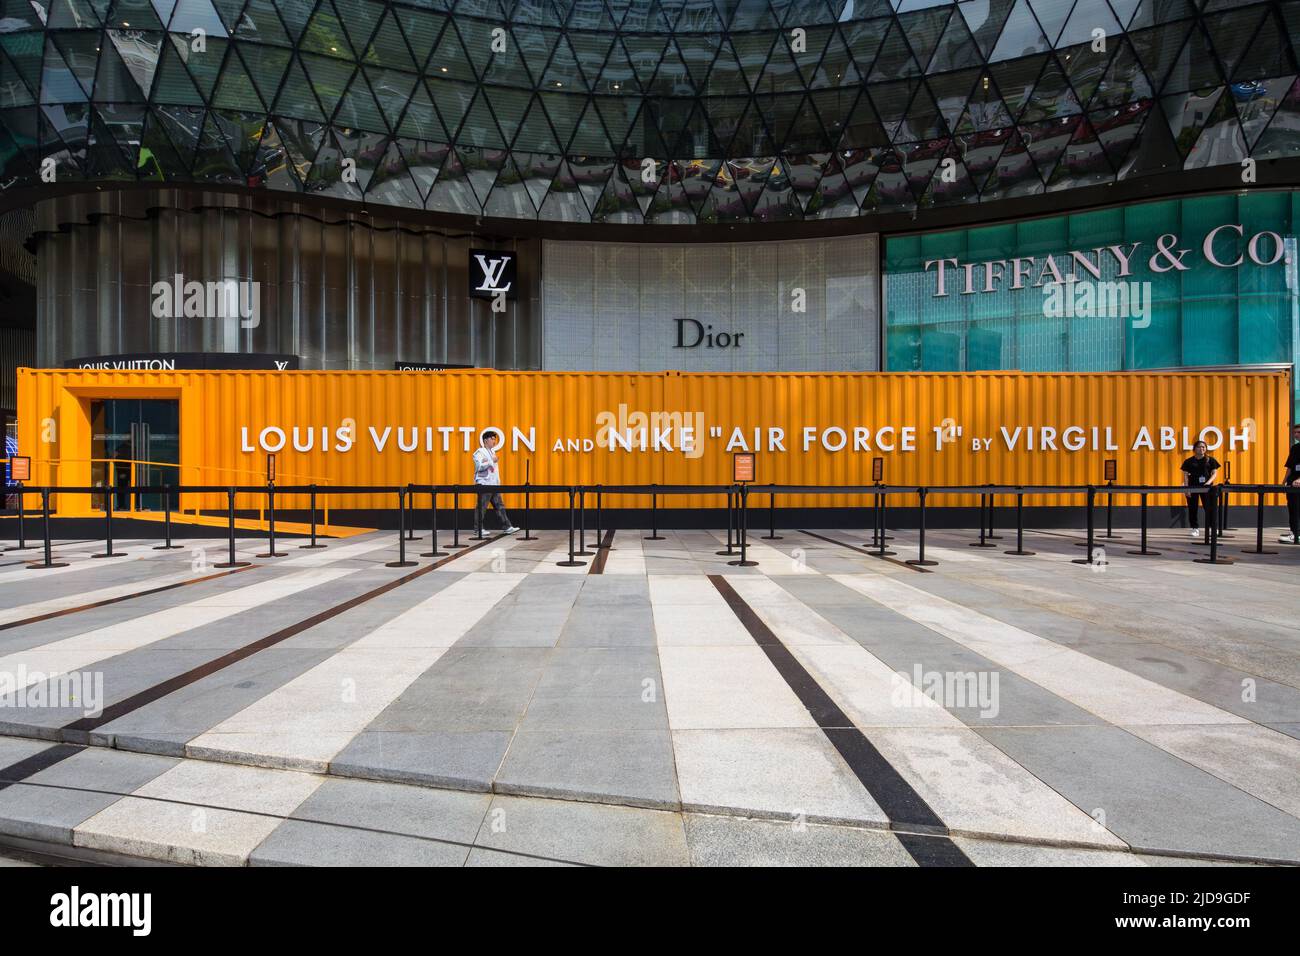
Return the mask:
[[[260,451],[243,451],[243,427],[254,441],[266,427],[280,427],[290,445],[277,458],[278,483],[317,480],[328,484],[469,483],[464,436],[452,434],[442,451],[441,427],[467,427],[477,433],[536,427],[536,450],[510,449],[502,455],[503,481],[521,483],[532,462],[534,484],[722,484],[729,480],[727,440],[733,428],[753,437],[755,428],[784,429],[784,453],[758,449],[758,481],[783,484],[868,484],[871,459],[885,459],[885,481],[905,484],[1083,484],[1100,483],[1102,462],[1119,460],[1122,484],[1176,484],[1182,429],[1196,433],[1217,427],[1249,434],[1249,447],[1214,454],[1232,463],[1232,480],[1273,483],[1288,447],[1290,380],[1284,372],[1175,373],[588,373],[588,372],[122,372],[86,369],[21,369],[20,440],[34,457],[34,479],[46,480],[60,459],[62,484],[88,481],[88,407],[100,397],[178,398],[181,458],[186,483],[259,483],[265,472]],[[698,425],[703,453],[624,451],[595,447],[589,453],[556,451],[556,442],[595,440],[610,419],[637,425],[638,412],[680,414]],[[621,418],[620,418],[621,415]],[[603,416],[603,418],[602,418]],[[292,427],[333,429],[355,421],[351,451],[292,451]],[[959,437],[936,450],[935,427],[952,423]],[[382,436],[393,427],[385,451],[374,450],[370,428]],[[892,425],[915,428],[915,450],[881,453],[875,432]],[[1069,425],[1113,429],[1118,451],[1010,451],[1000,427]],[[1174,451],[1132,451],[1140,427],[1157,433],[1173,427]],[[846,450],[814,445],[802,450],[802,428],[848,431]],[[853,451],[853,428],[871,429],[871,451]],[[419,429],[419,449],[396,449],[396,429]],[[433,453],[425,451],[432,428]],[[712,432],[711,429],[720,429]],[[52,437],[52,441],[43,440]],[[410,438],[411,432],[406,436]],[[1023,436],[1023,433],[1022,433]],[[992,450],[974,451],[972,440],[993,438]],[[1022,437],[1023,442],[1023,437]],[[1157,438],[1158,449],[1158,438]],[[970,503],[953,497],[935,505]],[[242,502],[248,505],[250,502]],[[334,507],[377,507],[391,502],[374,496],[337,501]],[[636,506],[641,501],[610,501]],[[784,501],[783,505],[861,503],[844,497]],[[910,502],[900,502],[910,503]],[[1040,499],[1028,503],[1057,503]],[[1063,502],[1061,502],[1063,503]],[[204,507],[224,502],[205,501]],[[540,507],[560,501],[538,501]],[[676,498],[663,506],[716,506],[716,499]],[[194,506],[192,502],[190,506]],[[286,503],[286,506],[289,506]]]

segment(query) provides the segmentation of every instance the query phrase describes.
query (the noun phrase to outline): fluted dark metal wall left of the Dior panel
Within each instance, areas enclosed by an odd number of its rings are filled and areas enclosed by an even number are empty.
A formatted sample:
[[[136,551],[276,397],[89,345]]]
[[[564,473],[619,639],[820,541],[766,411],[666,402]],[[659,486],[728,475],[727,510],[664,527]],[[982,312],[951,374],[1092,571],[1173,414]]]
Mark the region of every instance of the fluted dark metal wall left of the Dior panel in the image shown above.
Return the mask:
[[[364,213],[322,217],[292,203],[203,200],[157,190],[42,203],[39,362],[209,351],[292,354],[303,368],[324,369],[398,360],[540,367],[537,241],[520,247],[526,287],[494,315],[469,297],[468,255],[510,243]],[[155,284],[172,289],[177,277],[224,284],[244,299],[235,294],[228,315],[153,315]],[[243,304],[254,315],[239,315]]]

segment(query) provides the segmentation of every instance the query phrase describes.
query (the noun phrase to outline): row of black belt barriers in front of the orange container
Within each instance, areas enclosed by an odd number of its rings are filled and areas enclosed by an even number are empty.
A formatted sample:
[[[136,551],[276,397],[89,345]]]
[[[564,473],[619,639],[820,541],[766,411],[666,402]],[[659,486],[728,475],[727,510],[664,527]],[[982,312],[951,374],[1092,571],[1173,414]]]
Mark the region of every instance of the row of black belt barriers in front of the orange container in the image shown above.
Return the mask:
[[[398,511],[398,559],[391,562],[389,567],[411,567],[417,562],[407,559],[406,545],[407,541],[416,541],[419,537],[415,536],[415,514],[416,514],[416,496],[428,496],[429,498],[429,511],[430,511],[430,541],[432,546],[428,551],[420,554],[422,558],[442,558],[447,555],[447,551],[439,550],[438,548],[438,515],[439,515],[439,499],[446,501],[450,496],[451,498],[451,512],[452,512],[452,542],[446,545],[448,549],[460,549],[465,545],[460,544],[460,499],[463,496],[477,496],[484,493],[485,489],[491,489],[493,493],[499,494],[523,494],[524,496],[524,540],[533,540],[530,533],[532,528],[532,497],[536,494],[558,494],[568,502],[568,558],[566,561],[558,562],[562,567],[578,567],[585,564],[585,561],[578,558],[592,557],[595,551],[588,550],[586,540],[586,496],[593,494],[595,499],[595,542],[597,549],[606,548],[602,544],[603,531],[606,528],[607,514],[604,509],[604,497],[610,494],[620,496],[641,496],[650,498],[650,535],[645,537],[647,541],[662,541],[663,538],[658,532],[658,507],[659,498],[664,496],[716,496],[724,498],[727,502],[727,548],[718,551],[723,557],[733,557],[734,561],[728,562],[729,564],[738,567],[753,567],[758,562],[749,559],[749,497],[751,494],[767,496],[768,499],[768,533],[763,536],[764,540],[780,540],[781,536],[776,533],[776,499],[783,496],[844,496],[844,497],[859,497],[870,502],[871,507],[871,542],[868,545],[868,553],[872,557],[888,558],[894,551],[887,550],[885,541],[893,540],[887,535],[887,515],[889,498],[902,497],[902,498],[915,498],[919,506],[919,522],[918,522],[918,549],[919,557],[910,558],[905,563],[914,567],[928,567],[937,564],[939,562],[926,558],[926,515],[927,505],[930,498],[936,494],[967,494],[979,496],[979,509],[980,509],[980,528],[979,540],[971,542],[972,548],[993,548],[996,545],[991,544],[993,540],[998,540],[1001,536],[993,533],[993,518],[994,518],[994,499],[997,497],[1014,497],[1015,498],[1015,548],[1008,550],[1006,554],[1011,555],[1032,555],[1035,551],[1024,550],[1024,496],[1057,496],[1061,498],[1083,497],[1083,507],[1086,515],[1087,527],[1087,540],[1079,542],[1080,548],[1087,549],[1087,557],[1075,561],[1076,564],[1105,564],[1105,548],[1098,544],[1098,538],[1117,540],[1118,536],[1113,532],[1112,524],[1112,502],[1115,494],[1132,494],[1139,498],[1139,509],[1141,518],[1140,527],[1140,549],[1128,551],[1128,554],[1135,555],[1157,555],[1160,551],[1150,550],[1147,537],[1148,529],[1148,505],[1152,496],[1174,496],[1186,498],[1188,496],[1202,494],[1206,496],[1206,515],[1208,528],[1205,538],[1197,544],[1205,545],[1208,550],[1208,557],[1197,558],[1196,561],[1206,564],[1230,564],[1232,561],[1225,558],[1221,554],[1221,541],[1223,538],[1223,532],[1227,528],[1227,499],[1228,494],[1245,494],[1256,496],[1256,528],[1254,528],[1254,548],[1240,549],[1244,554],[1275,554],[1277,551],[1265,550],[1264,548],[1264,507],[1265,498],[1268,496],[1288,496],[1300,494],[1300,488],[1290,485],[1239,485],[1239,484],[1216,484],[1206,488],[1191,488],[1186,485],[1119,485],[1119,484],[1100,484],[1100,485],[885,485],[885,484],[870,484],[870,485],[777,485],[777,484],[731,484],[731,485],[660,485],[660,484],[641,484],[641,485],[534,485],[534,484],[521,484],[521,485],[426,485],[426,484],[406,484],[406,485],[276,485],[276,484],[261,484],[261,485],[91,485],[91,486],[64,486],[64,485],[23,485],[9,490],[10,496],[18,498],[18,507],[13,512],[18,518],[18,544],[17,548],[9,548],[6,550],[23,550],[27,548],[26,542],[26,525],[25,519],[27,516],[26,511],[26,498],[27,496],[39,496],[40,498],[40,518],[42,518],[42,533],[44,536],[43,541],[43,561],[35,564],[30,564],[31,568],[48,568],[48,567],[64,567],[65,564],[56,563],[52,553],[51,544],[51,511],[49,511],[49,496],[51,494],[91,494],[103,496],[104,499],[104,551],[95,554],[96,558],[116,558],[122,557],[122,553],[113,550],[113,497],[116,494],[161,494],[165,502],[164,510],[164,544],[160,545],[159,550],[176,548],[172,544],[172,501],[173,496],[181,494],[216,494],[225,496],[226,498],[226,531],[228,531],[228,561],[217,564],[217,567],[243,567],[248,562],[237,561],[235,557],[235,498],[240,494],[260,496],[266,499],[266,514],[268,514],[268,548],[266,551],[259,554],[259,558],[280,558],[285,557],[285,553],[276,550],[276,499],[283,501],[286,497],[302,496],[311,502],[311,544],[302,545],[302,548],[325,548],[326,545],[317,541],[317,499],[321,496],[334,496],[334,494],[370,494],[370,496],[391,496],[394,505]],[[1098,535],[1096,528],[1096,507],[1097,496],[1106,496],[1106,532],[1105,535]],[[482,538],[482,529],[478,529],[478,537]]]

